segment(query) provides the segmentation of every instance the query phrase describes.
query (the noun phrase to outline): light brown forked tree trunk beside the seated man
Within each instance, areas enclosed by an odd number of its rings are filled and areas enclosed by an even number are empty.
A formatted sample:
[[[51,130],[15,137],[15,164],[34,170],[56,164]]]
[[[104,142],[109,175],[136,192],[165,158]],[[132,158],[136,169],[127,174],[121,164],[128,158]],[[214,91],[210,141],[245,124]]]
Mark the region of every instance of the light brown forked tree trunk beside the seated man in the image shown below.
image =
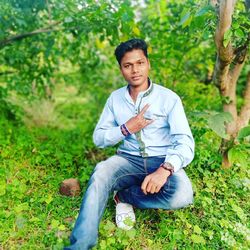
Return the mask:
[[[215,44],[217,48],[217,59],[214,71],[214,82],[220,90],[223,101],[223,111],[232,115],[232,122],[226,124],[226,132],[229,139],[223,139],[220,152],[223,156],[223,166],[230,167],[228,161],[228,150],[239,130],[249,123],[250,119],[250,73],[248,74],[246,90],[244,94],[244,105],[240,114],[237,112],[237,81],[247,58],[247,49],[249,37],[246,43],[239,47],[233,48],[231,41],[223,44],[224,36],[231,28],[232,15],[234,11],[235,0],[218,1],[219,21],[215,33]]]

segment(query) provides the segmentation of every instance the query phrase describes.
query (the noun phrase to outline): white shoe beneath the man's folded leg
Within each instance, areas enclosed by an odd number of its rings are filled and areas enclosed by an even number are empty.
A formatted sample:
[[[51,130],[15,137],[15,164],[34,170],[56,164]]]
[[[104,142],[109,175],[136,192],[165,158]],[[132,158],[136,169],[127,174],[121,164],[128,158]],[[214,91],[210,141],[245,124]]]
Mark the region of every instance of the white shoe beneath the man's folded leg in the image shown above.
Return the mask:
[[[132,229],[135,224],[135,213],[133,206],[123,202],[117,203],[115,221],[117,227],[123,230]]]

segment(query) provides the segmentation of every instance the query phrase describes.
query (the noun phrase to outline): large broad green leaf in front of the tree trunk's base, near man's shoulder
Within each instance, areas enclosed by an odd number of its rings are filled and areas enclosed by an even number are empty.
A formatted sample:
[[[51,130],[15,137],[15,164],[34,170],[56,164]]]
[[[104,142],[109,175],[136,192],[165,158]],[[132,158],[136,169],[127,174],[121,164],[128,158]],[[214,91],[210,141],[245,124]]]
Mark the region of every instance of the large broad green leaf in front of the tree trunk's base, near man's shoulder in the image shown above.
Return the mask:
[[[208,118],[208,126],[220,137],[227,139],[225,124],[233,120],[229,112],[221,112]]]

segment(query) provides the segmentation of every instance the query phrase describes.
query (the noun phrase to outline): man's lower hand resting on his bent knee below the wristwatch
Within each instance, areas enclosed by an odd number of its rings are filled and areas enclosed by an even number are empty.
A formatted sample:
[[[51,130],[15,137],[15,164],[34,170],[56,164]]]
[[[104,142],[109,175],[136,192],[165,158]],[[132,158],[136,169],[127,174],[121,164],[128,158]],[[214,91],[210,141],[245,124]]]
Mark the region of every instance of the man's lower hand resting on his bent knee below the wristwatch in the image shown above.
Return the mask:
[[[158,193],[167,182],[170,174],[170,171],[160,167],[152,174],[147,175],[141,185],[143,193]]]

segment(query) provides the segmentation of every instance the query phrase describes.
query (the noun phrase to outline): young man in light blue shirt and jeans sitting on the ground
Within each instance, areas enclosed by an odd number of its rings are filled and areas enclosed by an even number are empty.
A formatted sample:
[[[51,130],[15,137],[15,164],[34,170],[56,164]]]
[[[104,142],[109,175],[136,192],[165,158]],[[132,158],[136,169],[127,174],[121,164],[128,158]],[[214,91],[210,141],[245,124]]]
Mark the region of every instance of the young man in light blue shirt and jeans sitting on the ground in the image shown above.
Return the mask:
[[[128,85],[108,98],[94,131],[101,148],[123,141],[117,154],[94,169],[79,216],[65,249],[90,249],[109,195],[116,191],[116,223],[130,229],[133,206],[178,209],[193,201],[184,167],[194,156],[194,140],[180,98],[149,78],[143,40],[131,39],[115,50]]]

